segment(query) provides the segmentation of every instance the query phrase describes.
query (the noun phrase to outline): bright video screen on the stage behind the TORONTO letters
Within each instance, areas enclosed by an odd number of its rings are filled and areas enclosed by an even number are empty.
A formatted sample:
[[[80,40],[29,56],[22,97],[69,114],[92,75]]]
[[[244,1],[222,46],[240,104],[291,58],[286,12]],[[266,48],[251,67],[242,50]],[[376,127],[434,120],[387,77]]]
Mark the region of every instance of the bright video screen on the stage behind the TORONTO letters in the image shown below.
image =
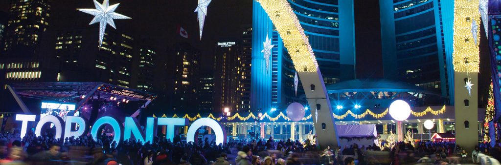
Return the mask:
[[[57,115],[66,121],[66,116],[80,116],[79,111],[75,111],[75,104],[71,103],[58,103],[58,102],[42,102],[40,118],[47,115]],[[52,126],[51,126],[52,127]]]

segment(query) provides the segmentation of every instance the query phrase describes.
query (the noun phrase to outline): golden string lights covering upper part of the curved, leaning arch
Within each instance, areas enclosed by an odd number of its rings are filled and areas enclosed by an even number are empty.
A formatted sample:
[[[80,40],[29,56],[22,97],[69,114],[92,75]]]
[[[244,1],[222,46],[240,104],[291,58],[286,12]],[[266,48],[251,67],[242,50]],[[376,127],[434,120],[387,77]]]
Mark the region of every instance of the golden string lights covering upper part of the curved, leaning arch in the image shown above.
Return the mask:
[[[272,19],[291,55],[296,70],[316,72],[318,70],[317,59],[289,2],[287,0],[258,0],[258,2]]]

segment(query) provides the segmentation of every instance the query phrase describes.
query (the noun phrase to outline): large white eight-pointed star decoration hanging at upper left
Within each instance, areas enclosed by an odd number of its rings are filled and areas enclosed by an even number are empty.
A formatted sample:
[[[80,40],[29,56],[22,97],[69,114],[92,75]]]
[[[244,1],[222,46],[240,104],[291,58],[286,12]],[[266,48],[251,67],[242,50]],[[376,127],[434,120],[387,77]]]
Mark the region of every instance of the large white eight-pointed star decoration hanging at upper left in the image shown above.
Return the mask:
[[[109,24],[113,28],[117,28],[115,26],[115,22],[113,19],[130,19],[130,17],[116,13],[115,9],[117,9],[118,5],[113,4],[110,5],[108,0],[104,0],[103,4],[99,4],[96,0],[94,0],[94,5],[96,6],[96,9],[94,8],[77,8],[77,10],[80,10],[82,12],[94,15],[94,19],[89,24],[94,24],[99,22],[99,46],[101,46],[101,43],[103,42],[103,37],[104,37],[104,31],[106,30],[106,24]]]

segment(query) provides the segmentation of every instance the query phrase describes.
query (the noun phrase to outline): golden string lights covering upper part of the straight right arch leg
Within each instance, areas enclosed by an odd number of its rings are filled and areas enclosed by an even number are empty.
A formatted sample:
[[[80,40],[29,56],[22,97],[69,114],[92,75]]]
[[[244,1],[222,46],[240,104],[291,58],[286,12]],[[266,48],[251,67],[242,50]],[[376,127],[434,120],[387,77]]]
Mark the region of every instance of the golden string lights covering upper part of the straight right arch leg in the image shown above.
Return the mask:
[[[479,20],[478,0],[454,0],[454,40],[452,52],[454,71],[479,71],[478,37],[475,36],[479,35],[480,27],[478,25],[472,26],[472,21],[475,21],[476,24],[476,22],[480,22]]]

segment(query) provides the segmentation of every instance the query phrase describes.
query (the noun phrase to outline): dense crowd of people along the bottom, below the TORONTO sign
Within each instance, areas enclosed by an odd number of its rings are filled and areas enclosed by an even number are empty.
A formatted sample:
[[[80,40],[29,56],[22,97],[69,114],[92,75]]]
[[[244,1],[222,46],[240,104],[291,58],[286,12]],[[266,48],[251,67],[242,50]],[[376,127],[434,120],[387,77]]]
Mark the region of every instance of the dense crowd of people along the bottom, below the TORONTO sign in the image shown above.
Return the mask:
[[[154,137],[142,143],[125,139],[118,144],[112,136],[91,135],[58,140],[54,135],[0,133],[0,164],[446,164],[478,163],[479,153],[496,159],[501,147],[479,143],[473,151],[463,150],[453,142],[424,142],[414,145],[396,142],[381,149],[376,144],[319,149],[308,139],[231,140],[216,144],[207,138],[186,142]]]

